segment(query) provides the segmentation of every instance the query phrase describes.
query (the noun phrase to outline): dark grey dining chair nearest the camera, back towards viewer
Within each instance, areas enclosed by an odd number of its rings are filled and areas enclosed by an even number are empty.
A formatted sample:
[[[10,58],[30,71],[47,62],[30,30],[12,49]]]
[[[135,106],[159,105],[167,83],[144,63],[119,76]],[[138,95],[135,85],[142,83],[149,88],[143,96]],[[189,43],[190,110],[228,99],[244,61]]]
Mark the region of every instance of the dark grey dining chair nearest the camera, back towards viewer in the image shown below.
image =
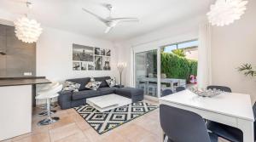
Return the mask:
[[[216,134],[207,132],[203,118],[191,111],[160,105],[160,126],[168,142],[218,142]]]

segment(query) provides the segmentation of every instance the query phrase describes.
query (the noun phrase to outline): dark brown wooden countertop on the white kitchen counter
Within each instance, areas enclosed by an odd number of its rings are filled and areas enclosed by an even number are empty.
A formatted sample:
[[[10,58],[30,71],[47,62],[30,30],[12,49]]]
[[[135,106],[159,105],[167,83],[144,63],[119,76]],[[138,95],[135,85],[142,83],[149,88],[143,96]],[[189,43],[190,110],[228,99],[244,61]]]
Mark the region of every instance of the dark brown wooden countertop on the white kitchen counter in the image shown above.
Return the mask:
[[[45,77],[0,77],[0,87],[50,83]]]

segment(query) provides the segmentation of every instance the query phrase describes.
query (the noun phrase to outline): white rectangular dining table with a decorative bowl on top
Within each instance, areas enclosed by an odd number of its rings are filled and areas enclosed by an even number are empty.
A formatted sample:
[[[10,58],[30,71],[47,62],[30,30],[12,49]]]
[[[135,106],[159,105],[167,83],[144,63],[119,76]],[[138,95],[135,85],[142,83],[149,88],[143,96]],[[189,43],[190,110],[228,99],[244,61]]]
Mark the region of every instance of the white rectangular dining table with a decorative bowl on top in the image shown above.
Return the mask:
[[[254,116],[250,95],[222,93],[207,98],[186,89],[160,98],[160,104],[193,111],[207,120],[241,129],[244,142],[254,142]]]

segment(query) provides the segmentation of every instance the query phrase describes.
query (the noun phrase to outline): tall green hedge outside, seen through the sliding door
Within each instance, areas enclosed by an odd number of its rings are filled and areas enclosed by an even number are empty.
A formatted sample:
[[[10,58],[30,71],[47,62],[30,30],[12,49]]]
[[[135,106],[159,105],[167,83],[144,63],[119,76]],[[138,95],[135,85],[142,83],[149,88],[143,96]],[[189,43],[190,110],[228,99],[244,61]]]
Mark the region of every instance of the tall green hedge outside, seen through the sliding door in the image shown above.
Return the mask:
[[[197,75],[197,61],[162,52],[161,73],[165,73],[168,78],[186,79],[189,82],[190,75]]]

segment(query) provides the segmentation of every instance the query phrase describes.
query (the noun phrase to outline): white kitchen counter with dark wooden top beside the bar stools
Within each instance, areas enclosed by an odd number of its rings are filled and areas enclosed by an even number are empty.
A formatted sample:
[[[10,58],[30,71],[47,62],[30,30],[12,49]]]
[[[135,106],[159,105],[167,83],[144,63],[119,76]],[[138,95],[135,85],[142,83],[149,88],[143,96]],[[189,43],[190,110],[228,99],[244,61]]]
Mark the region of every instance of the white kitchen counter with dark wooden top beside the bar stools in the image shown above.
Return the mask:
[[[45,77],[0,77],[0,141],[32,132],[36,85]]]

